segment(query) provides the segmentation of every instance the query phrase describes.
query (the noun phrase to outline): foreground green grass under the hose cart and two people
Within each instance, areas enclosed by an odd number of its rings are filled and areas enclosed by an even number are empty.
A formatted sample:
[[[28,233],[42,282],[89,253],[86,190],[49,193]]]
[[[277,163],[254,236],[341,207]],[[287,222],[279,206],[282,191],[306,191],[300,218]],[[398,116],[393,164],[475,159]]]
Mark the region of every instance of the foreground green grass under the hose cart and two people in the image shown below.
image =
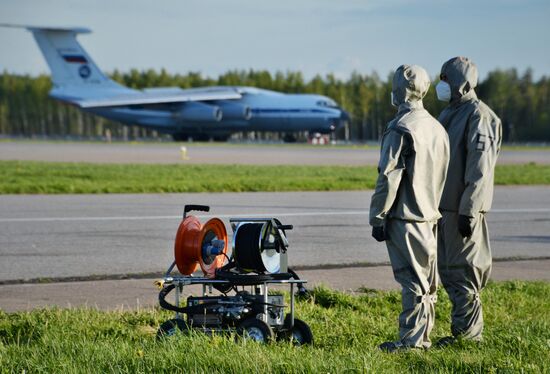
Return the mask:
[[[0,312],[0,372],[465,372],[550,371],[550,284],[491,283],[482,294],[481,344],[379,352],[397,337],[398,292],[351,296],[317,288],[299,301],[297,315],[315,344],[262,346],[230,336],[180,334],[156,341],[167,312],[100,312],[91,309]],[[450,304],[440,292],[432,339],[448,335]]]

